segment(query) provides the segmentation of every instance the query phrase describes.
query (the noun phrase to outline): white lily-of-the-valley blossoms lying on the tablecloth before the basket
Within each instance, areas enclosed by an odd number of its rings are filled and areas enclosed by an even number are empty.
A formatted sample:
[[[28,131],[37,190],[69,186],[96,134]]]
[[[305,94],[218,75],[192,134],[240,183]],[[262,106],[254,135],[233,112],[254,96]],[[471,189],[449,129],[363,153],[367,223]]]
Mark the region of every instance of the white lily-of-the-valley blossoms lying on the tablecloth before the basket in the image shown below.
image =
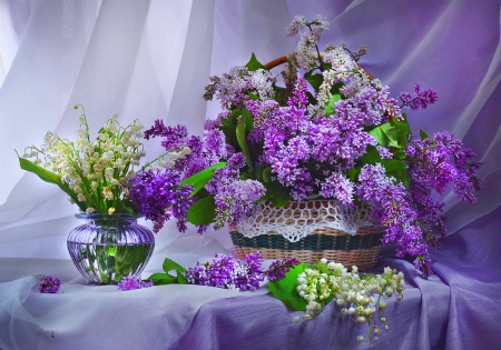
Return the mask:
[[[315,268],[299,273],[297,284],[297,292],[307,302],[303,319],[314,318],[324,310],[326,303],[335,299],[342,306],[343,314],[353,316],[357,323],[367,323],[367,339],[372,331],[376,336],[381,333],[376,314],[383,328],[389,329],[383,316],[386,300],[393,296],[396,301],[402,300],[405,289],[403,273],[396,273],[391,268],[385,268],[382,274],[360,276],[356,266],[348,272],[342,263],[327,262],[325,258]],[[295,321],[301,321],[301,318],[295,318]],[[358,336],[357,339],[363,341],[364,337]]]

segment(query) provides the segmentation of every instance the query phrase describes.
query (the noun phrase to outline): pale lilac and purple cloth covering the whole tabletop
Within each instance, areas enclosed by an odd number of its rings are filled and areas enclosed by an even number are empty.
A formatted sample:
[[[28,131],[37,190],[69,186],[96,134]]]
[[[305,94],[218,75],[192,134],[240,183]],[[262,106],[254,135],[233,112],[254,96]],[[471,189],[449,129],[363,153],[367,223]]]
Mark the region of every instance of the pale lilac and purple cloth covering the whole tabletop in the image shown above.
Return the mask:
[[[500,226],[498,209],[450,237],[428,280],[385,249],[373,271],[395,268],[406,284],[403,300],[385,309],[390,329],[372,343],[356,340],[366,326],[334,302],[294,322],[303,312],[275,299],[267,282],[245,292],[180,284],[119,291],[88,286],[70,260],[2,258],[0,349],[499,349]],[[185,259],[170,256],[187,264],[225,251],[196,236],[183,246],[197,248]],[[38,291],[45,274],[61,279],[58,293]]]

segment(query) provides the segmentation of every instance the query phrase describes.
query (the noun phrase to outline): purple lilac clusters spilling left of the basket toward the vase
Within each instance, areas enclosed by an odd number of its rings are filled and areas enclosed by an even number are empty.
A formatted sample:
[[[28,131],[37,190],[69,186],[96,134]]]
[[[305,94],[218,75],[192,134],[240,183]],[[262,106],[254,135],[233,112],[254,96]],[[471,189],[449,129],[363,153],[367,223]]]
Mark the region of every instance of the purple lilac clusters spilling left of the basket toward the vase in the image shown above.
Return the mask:
[[[129,198],[138,203],[146,219],[155,223],[155,232],[171,217],[177,219],[179,231],[186,230],[187,212],[197,197],[190,197],[193,187],[180,186],[180,182],[225,160],[226,167],[216,169],[205,186],[215,200],[214,228],[237,224],[254,213],[255,201],[266,190],[258,181],[240,179],[239,169],[245,164],[245,158],[226,143],[225,134],[214,121],[206,122],[203,138],[189,136],[183,126],[166,127],[161,120],[155,121],[145,134],[147,139],[163,138],[161,144],[170,160],[165,163],[164,170],[144,170],[130,181]],[[176,152],[183,153],[183,157],[173,157]],[[198,232],[204,232],[206,228],[206,224],[198,226]]]

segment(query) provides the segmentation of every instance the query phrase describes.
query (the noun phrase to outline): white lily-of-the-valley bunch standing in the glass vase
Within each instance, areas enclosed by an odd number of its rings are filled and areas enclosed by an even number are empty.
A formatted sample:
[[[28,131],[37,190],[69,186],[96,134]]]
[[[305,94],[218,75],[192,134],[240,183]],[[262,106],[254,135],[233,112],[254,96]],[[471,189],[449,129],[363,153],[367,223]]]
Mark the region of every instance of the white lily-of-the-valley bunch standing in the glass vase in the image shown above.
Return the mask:
[[[76,142],[49,131],[43,139],[45,144],[40,149],[28,147],[23,158],[35,158],[35,163],[57,173],[76,193],[77,204],[87,213],[114,213],[114,207],[127,197],[127,183],[135,173],[134,167],[139,166],[146,156],[139,142],[144,127],[136,119],[122,128],[114,114],[91,141],[85,111],[78,120]],[[72,199],[70,201],[75,203]]]

